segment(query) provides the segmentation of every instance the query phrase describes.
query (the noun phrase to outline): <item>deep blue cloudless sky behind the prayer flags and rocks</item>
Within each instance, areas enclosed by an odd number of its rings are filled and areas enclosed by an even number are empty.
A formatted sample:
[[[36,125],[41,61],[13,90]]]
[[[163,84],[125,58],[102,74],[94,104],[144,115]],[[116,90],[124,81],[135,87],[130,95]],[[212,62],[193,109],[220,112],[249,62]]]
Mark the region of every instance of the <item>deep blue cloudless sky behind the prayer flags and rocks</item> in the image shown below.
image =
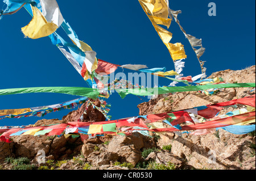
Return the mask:
[[[113,64],[143,64],[148,68],[166,67],[173,70],[170,53],[152,27],[150,20],[137,0],[85,1],[59,0],[61,14],[85,41],[97,52],[97,58]],[[208,3],[217,6],[217,16],[208,15]],[[0,3],[0,9],[3,2]],[[172,10],[181,10],[178,19],[184,30],[203,40],[206,48],[200,58],[205,63],[207,75],[215,71],[240,70],[255,65],[255,1],[184,0],[170,1]],[[28,39],[20,28],[26,26],[31,16],[22,8],[0,20],[0,89],[22,87],[87,87],[60,50],[48,37]],[[184,45],[185,76],[201,73],[199,62],[188,40],[173,21],[168,31],[173,33],[171,43]],[[117,72],[122,71],[118,68]],[[117,73],[116,72],[116,73]],[[125,70],[125,73],[129,71]],[[131,71],[134,72],[134,71]],[[168,86],[166,78],[159,85]],[[79,98],[64,94],[18,94],[0,96],[0,110],[47,106]],[[148,101],[147,97],[143,98]],[[137,105],[143,101],[134,95],[121,99],[114,93],[106,100],[112,105],[112,119],[137,116]],[[61,119],[72,110],[49,113],[44,117],[26,117],[0,120],[3,125],[28,125],[40,119]]]

